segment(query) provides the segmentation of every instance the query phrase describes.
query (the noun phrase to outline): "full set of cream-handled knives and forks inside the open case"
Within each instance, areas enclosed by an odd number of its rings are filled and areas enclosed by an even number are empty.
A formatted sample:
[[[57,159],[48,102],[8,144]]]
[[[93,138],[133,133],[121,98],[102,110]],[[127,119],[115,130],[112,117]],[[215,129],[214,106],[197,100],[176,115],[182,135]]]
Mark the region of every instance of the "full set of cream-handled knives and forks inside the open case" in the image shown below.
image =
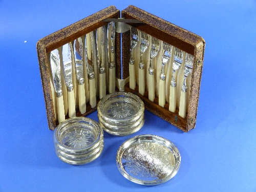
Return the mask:
[[[75,117],[78,108],[81,114],[86,113],[88,102],[95,108],[97,96],[101,99],[106,93],[115,93],[115,32],[115,23],[111,22],[51,51],[59,123],[67,114]],[[135,51],[137,45],[139,49]],[[147,85],[149,100],[154,102],[158,96],[160,106],[164,108],[167,101],[169,111],[176,112],[177,84],[182,84],[178,108],[183,118],[186,116],[187,77],[193,70],[193,60],[193,55],[131,27],[130,88],[135,90],[137,82],[139,93],[144,95]],[[179,72],[180,68],[184,68],[184,73]],[[181,76],[183,83],[177,83]]]

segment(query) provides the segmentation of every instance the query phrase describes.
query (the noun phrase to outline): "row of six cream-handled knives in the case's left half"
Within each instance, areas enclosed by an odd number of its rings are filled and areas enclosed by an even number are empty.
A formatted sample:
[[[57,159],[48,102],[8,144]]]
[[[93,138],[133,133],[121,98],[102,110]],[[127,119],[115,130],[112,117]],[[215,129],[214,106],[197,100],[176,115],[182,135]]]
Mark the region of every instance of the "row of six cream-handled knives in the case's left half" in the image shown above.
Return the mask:
[[[69,117],[76,116],[76,103],[81,114],[86,113],[87,102],[95,108],[96,96],[101,99],[107,91],[115,92],[115,23],[51,51],[50,66],[59,123],[65,120],[67,112]],[[63,97],[66,92],[67,101]]]

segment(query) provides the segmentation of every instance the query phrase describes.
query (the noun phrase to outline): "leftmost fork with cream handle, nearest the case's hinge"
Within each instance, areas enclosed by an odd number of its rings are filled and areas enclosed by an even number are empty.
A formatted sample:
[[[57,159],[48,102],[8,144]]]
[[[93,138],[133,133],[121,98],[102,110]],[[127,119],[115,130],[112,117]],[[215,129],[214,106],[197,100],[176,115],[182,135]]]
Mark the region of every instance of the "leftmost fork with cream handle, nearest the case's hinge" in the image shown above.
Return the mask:
[[[133,90],[136,87],[133,49],[138,44],[138,41],[139,41],[138,30],[134,27],[131,27],[131,48],[130,48],[129,74],[130,74],[130,88]]]

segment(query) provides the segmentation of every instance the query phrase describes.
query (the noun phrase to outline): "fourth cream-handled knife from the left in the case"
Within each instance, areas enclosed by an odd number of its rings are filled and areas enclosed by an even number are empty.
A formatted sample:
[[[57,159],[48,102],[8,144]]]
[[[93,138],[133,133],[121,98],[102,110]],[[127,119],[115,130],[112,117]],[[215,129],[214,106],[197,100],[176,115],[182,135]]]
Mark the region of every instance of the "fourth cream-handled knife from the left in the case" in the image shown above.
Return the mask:
[[[88,81],[89,81],[89,103],[91,108],[96,106],[96,87],[95,87],[95,74],[94,74],[94,65],[93,65],[93,51],[94,51],[94,34],[93,31],[86,34],[85,39],[85,48],[86,48],[86,65],[88,72]]]

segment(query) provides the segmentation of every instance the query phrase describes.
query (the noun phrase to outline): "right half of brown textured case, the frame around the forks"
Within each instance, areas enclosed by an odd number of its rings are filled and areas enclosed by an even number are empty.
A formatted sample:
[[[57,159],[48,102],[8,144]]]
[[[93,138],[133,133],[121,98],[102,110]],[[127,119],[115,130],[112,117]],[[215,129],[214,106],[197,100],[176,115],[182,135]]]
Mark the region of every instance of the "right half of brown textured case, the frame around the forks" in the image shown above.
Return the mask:
[[[131,90],[129,86],[125,87],[125,90],[138,95],[144,102],[145,108],[148,111],[156,114],[164,120],[177,126],[184,132],[188,132],[195,128],[200,83],[202,76],[202,63],[204,57],[205,41],[202,37],[191,33],[185,29],[182,29],[172,23],[167,22],[155,15],[152,15],[146,11],[143,11],[135,6],[129,6],[122,11],[122,17],[126,19],[138,19],[144,24],[129,23],[129,25],[146,32],[160,40],[167,42],[191,55],[194,55],[194,66],[191,76],[191,89],[188,103],[188,114],[186,118],[180,117],[179,110],[175,113],[168,110],[168,103],[165,104],[164,108],[158,105],[158,98],[154,102],[148,100],[148,93],[144,95],[138,93],[138,89]],[[123,57],[129,58],[129,38],[130,33],[123,33],[122,48],[126,54]],[[123,51],[124,52],[124,51]],[[122,58],[123,61],[123,79],[129,76],[129,59]]]

